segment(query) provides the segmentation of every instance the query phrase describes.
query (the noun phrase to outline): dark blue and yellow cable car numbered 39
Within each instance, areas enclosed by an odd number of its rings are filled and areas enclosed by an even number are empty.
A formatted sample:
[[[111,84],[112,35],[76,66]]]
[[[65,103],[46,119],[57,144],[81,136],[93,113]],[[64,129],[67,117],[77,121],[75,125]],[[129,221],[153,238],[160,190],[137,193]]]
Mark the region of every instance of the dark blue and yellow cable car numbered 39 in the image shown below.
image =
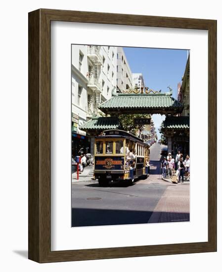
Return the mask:
[[[100,186],[109,181],[132,185],[148,176],[149,145],[122,130],[106,130],[95,136],[94,179]]]

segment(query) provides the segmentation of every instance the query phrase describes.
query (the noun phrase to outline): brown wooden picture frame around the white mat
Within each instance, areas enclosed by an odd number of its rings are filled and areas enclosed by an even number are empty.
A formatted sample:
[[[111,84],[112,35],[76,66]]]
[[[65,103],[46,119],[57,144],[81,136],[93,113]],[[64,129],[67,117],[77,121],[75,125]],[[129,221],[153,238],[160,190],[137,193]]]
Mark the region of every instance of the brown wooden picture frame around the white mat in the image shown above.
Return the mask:
[[[208,242],[121,248],[50,249],[50,22],[208,30]],[[217,21],[39,9],[29,13],[29,259],[80,261],[217,250]]]

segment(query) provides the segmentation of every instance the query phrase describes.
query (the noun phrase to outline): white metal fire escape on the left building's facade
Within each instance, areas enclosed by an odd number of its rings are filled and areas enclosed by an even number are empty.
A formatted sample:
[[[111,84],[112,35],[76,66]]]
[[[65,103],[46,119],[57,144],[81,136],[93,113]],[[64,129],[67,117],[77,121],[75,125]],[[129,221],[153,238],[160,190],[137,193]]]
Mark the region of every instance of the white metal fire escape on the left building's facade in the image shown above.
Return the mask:
[[[99,81],[99,76],[102,66],[102,56],[100,55],[100,47],[98,45],[88,46],[89,73],[88,73],[88,88],[92,91],[92,97],[88,101],[88,114],[91,115],[91,104],[95,114],[98,112],[98,104],[100,103],[100,95],[102,92],[102,84]]]

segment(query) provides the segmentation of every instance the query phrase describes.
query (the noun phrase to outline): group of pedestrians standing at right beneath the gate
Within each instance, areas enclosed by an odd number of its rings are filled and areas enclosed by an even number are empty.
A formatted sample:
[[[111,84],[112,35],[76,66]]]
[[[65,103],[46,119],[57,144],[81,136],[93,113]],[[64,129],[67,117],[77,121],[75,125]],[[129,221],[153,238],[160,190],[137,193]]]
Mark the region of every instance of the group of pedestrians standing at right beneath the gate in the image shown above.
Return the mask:
[[[178,176],[178,182],[180,182],[180,178],[182,182],[184,182],[184,178],[186,181],[190,179],[190,158],[186,155],[185,159],[183,159],[180,150],[178,150],[175,158],[169,152],[168,156],[161,161],[161,168],[163,178]]]

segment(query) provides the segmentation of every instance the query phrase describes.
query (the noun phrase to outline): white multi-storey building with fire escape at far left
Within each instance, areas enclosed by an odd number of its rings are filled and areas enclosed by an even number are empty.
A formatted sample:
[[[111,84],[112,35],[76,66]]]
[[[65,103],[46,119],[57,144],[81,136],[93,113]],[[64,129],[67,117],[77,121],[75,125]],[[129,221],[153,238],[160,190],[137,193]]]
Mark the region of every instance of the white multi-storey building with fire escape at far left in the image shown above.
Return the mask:
[[[117,47],[72,45],[72,132],[76,148],[89,146],[89,139],[79,129],[98,105],[112,97],[117,79]],[[100,112],[101,113],[101,112]],[[82,136],[82,139],[79,139]],[[79,142],[78,142],[79,141]],[[81,141],[81,143],[80,143]]]

